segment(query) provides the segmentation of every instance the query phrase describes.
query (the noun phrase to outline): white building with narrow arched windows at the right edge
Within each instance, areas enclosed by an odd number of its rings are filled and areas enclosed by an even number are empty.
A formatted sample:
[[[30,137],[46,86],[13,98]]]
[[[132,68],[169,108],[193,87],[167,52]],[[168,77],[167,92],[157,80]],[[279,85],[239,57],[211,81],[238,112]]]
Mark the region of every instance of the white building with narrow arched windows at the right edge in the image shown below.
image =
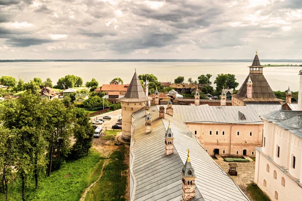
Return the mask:
[[[298,99],[301,91],[302,70]],[[302,200],[302,111],[279,111],[261,118],[263,143],[256,148],[254,182],[271,200]]]

